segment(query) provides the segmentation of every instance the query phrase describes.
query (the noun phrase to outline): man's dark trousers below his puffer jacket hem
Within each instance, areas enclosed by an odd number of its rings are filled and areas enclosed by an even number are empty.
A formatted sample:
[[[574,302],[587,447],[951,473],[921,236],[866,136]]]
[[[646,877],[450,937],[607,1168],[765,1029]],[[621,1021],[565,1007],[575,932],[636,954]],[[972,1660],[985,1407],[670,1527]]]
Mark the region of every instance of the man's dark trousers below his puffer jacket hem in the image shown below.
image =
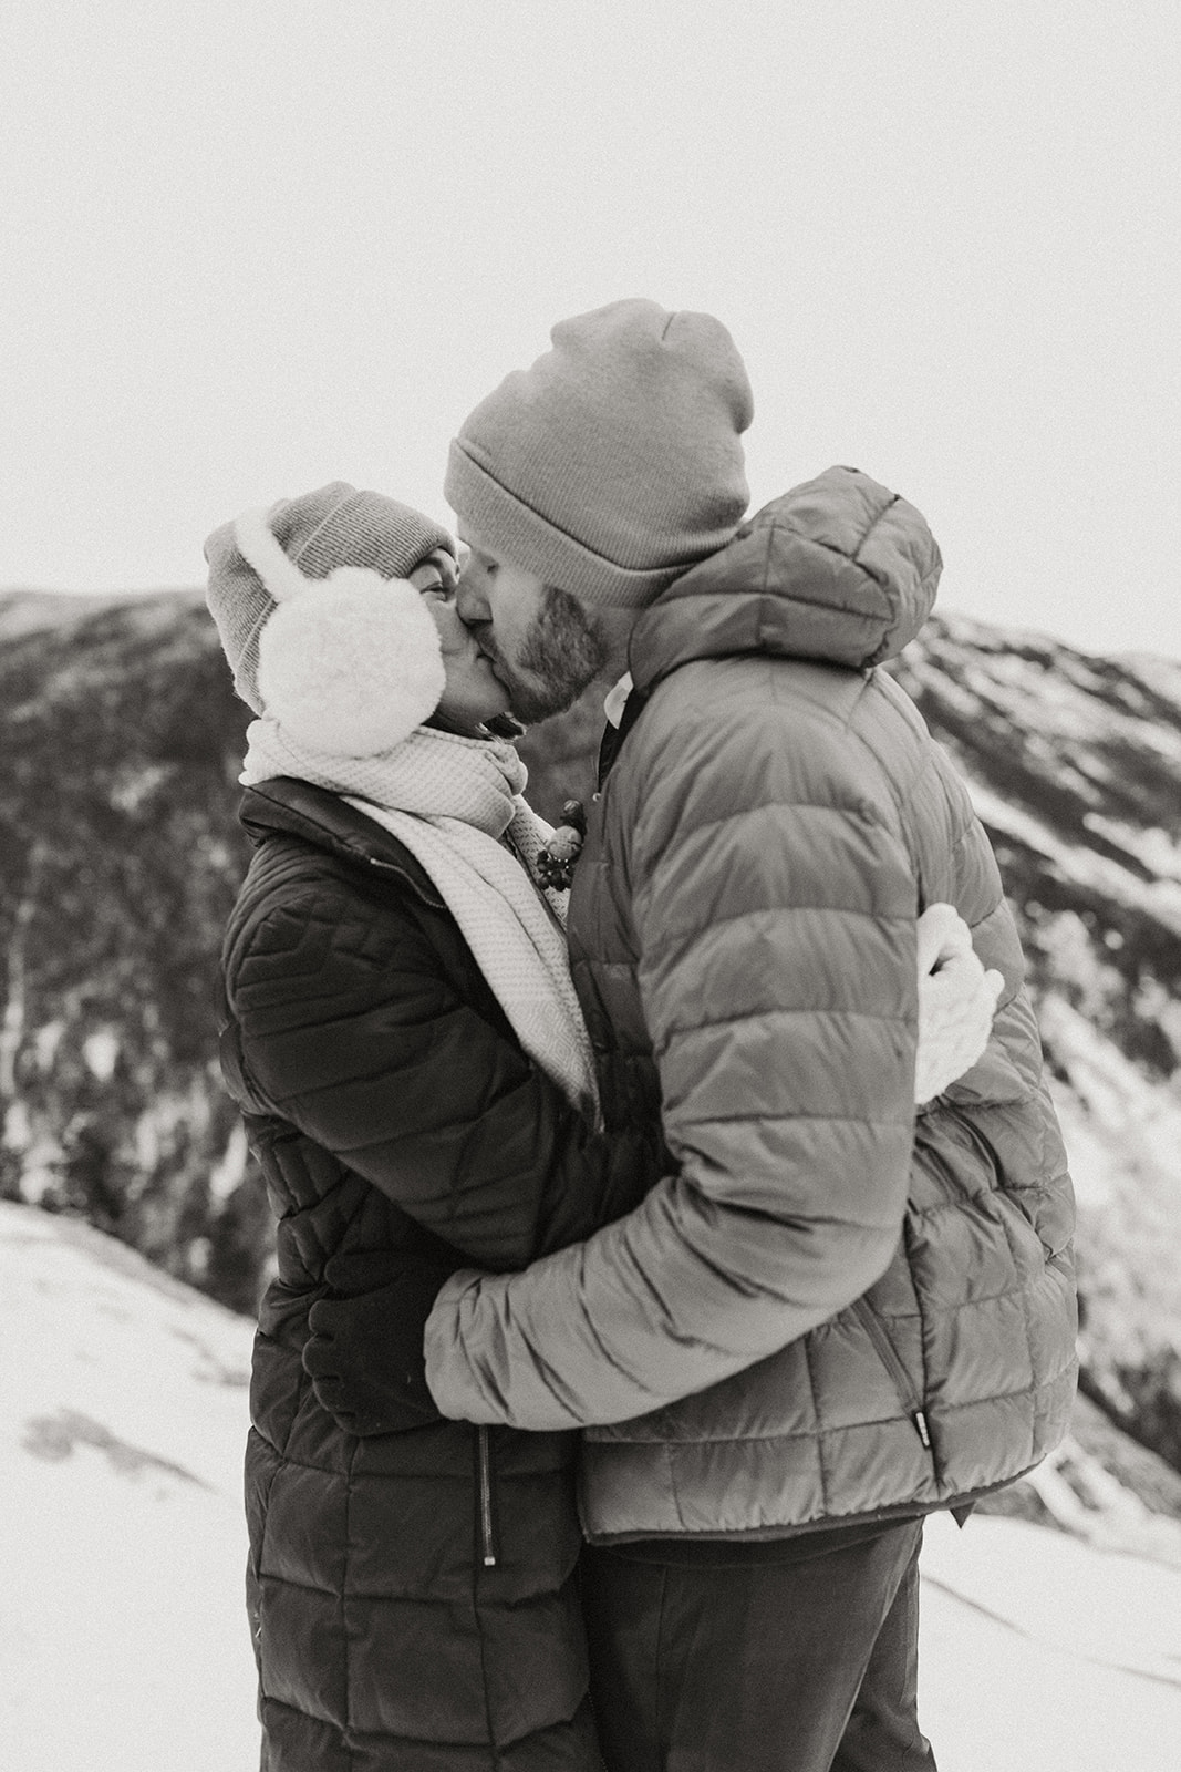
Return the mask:
[[[915,1714],[921,1538],[907,1520],[731,1563],[722,1545],[708,1563],[653,1561],[652,1540],[588,1547],[607,1772],[933,1772]]]

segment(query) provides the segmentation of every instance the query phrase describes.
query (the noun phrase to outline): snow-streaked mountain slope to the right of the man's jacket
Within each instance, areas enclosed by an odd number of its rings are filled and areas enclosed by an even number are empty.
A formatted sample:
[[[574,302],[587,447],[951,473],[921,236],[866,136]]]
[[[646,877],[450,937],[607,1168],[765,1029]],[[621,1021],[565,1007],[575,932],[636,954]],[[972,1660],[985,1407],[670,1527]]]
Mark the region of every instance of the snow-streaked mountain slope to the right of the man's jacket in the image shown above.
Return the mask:
[[[1181,1469],[1181,664],[937,617],[896,675],[1018,911],[1078,1194],[1085,1382]]]

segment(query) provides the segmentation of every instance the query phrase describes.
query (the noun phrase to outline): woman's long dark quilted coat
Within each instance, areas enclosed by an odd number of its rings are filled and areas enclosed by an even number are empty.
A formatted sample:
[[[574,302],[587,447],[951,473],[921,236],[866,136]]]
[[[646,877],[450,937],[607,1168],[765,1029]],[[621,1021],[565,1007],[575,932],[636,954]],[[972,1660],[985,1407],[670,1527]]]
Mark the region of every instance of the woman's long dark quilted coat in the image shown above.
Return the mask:
[[[221,1049],[278,1216],[246,1453],[262,1765],[590,1772],[570,1435],[358,1439],[301,1350],[312,1304],[386,1251],[501,1269],[584,1235],[637,1141],[588,1136],[379,826],[297,781],[243,817]]]

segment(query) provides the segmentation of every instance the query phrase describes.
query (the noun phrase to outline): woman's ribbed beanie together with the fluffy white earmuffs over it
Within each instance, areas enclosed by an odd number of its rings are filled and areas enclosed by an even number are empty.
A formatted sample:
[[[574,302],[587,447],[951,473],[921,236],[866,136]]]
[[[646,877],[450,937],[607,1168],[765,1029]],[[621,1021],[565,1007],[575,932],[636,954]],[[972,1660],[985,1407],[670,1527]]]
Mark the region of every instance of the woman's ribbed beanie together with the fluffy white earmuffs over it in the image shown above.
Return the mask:
[[[250,510],[205,542],[209,610],[255,714],[303,744],[368,757],[439,703],[439,631],[405,574],[436,548],[430,517],[333,480]]]

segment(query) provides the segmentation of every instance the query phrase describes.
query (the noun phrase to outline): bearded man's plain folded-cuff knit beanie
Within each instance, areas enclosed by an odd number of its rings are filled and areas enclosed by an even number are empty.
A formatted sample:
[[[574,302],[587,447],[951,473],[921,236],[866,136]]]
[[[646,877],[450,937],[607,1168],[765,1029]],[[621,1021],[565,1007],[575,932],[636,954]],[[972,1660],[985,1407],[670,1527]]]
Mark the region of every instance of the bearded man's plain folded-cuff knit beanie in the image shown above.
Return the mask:
[[[708,314],[613,301],[554,326],[452,443],[475,540],[586,602],[645,608],[738,528],[753,399]]]

